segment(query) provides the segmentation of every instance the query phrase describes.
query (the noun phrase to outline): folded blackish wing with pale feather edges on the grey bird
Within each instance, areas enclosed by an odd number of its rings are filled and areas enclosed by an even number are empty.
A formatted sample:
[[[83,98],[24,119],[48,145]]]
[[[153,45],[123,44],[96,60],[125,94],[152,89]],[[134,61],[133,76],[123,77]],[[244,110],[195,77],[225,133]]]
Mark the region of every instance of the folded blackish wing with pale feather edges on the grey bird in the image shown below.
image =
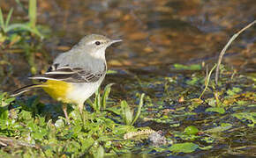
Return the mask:
[[[106,70],[94,73],[85,68],[58,67],[58,65],[54,64],[45,74],[35,75],[30,79],[57,80],[69,83],[95,83],[105,75],[105,72]]]

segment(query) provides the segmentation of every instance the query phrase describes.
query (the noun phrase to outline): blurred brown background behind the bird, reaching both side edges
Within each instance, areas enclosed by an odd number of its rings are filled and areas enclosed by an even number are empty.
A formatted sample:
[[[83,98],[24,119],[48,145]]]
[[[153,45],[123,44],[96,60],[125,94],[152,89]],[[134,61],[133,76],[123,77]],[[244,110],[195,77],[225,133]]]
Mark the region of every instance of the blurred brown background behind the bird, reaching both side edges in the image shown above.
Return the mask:
[[[1,0],[0,7],[4,18],[13,8],[10,23],[29,20],[28,0]],[[174,63],[214,63],[230,37],[256,18],[255,8],[255,0],[38,0],[36,25],[44,39],[27,39],[33,49],[2,48],[2,61],[11,63],[2,63],[2,86],[29,83],[26,76],[43,73],[57,54],[90,33],[124,40],[107,50],[109,68],[168,75]],[[232,43],[224,63],[255,71],[255,40],[252,26]]]

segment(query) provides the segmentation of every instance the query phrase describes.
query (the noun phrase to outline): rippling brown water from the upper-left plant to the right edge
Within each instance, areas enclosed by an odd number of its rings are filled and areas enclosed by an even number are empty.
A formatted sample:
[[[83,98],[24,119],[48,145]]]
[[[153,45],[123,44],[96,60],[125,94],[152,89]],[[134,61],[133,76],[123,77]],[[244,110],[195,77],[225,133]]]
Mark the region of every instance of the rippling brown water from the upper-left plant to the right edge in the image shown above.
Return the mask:
[[[256,4],[248,0],[44,1],[39,6],[40,23],[50,25],[55,34],[56,39],[49,40],[54,51],[56,45],[71,47],[85,34],[101,33],[124,39],[121,47],[108,51],[110,67],[147,67],[215,59],[231,35],[255,18]],[[255,50],[254,41],[255,29],[246,31],[229,50],[234,57],[226,61],[238,67],[254,62],[246,56]],[[248,47],[251,53],[242,54]]]

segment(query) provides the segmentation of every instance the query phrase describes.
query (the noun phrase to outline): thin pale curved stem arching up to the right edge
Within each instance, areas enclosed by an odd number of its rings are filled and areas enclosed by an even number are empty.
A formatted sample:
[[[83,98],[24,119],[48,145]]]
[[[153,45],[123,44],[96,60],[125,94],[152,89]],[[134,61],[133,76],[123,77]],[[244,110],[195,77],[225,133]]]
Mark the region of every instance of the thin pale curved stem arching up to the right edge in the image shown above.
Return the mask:
[[[222,63],[222,58],[223,55],[226,53],[226,50],[228,49],[228,47],[230,46],[230,44],[232,43],[233,40],[235,40],[237,38],[237,36],[241,33],[244,32],[247,28],[251,27],[252,25],[254,25],[256,23],[256,20],[252,21],[252,23],[250,23],[249,25],[246,25],[243,29],[241,29],[239,32],[237,32],[236,34],[234,34],[231,39],[229,40],[229,42],[226,44],[225,47],[223,47],[221,54],[219,55],[219,59],[218,59],[218,63],[217,63],[217,68],[216,68],[216,73],[215,73],[215,83],[216,85],[218,84],[218,77],[219,77],[219,69],[220,69],[220,65]]]

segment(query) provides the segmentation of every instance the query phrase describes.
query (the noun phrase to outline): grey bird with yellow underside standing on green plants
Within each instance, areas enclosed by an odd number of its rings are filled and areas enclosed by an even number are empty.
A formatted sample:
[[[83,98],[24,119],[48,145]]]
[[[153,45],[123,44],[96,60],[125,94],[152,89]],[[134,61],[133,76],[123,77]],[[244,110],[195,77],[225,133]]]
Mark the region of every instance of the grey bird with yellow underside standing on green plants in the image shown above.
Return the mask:
[[[11,97],[40,88],[63,103],[64,116],[69,120],[66,104],[77,104],[82,113],[85,101],[98,90],[105,78],[106,48],[121,41],[99,34],[86,35],[71,50],[59,54],[47,72],[29,77],[40,83],[15,90]]]

